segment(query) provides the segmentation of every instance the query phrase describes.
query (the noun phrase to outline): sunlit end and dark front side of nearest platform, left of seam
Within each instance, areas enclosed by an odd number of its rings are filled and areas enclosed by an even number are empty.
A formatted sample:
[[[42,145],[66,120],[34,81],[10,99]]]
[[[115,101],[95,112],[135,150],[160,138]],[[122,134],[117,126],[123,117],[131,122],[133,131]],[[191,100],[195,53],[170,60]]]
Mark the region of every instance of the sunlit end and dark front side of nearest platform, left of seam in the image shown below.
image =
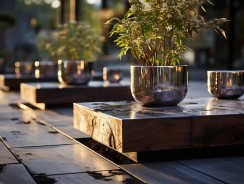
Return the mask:
[[[74,127],[119,152],[176,149],[191,144],[188,118],[134,121],[114,118],[74,104]]]

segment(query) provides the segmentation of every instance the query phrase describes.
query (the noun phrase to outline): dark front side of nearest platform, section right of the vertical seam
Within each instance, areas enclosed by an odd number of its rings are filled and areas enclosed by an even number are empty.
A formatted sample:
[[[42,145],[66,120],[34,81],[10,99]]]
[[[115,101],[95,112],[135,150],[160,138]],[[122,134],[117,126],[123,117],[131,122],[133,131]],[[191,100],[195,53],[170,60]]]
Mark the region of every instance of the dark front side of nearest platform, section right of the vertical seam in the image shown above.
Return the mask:
[[[244,115],[192,119],[192,147],[244,144]]]

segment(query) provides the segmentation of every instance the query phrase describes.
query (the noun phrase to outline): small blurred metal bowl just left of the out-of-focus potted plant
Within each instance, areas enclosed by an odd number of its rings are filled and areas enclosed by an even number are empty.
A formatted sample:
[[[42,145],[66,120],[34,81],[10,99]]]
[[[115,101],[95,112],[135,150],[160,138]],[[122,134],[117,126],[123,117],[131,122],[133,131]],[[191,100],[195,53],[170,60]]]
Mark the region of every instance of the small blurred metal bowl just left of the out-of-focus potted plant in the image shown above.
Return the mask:
[[[35,62],[35,77],[57,77],[58,63],[57,61],[36,61]]]

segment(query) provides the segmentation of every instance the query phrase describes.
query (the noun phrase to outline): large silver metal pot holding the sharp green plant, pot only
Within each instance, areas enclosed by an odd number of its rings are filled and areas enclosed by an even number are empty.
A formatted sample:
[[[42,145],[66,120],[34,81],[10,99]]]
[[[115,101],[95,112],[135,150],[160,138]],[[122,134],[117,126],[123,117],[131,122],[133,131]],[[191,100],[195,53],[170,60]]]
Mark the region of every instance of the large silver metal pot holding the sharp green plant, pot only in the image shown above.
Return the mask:
[[[186,96],[188,66],[131,66],[131,93],[144,106],[175,106]]]

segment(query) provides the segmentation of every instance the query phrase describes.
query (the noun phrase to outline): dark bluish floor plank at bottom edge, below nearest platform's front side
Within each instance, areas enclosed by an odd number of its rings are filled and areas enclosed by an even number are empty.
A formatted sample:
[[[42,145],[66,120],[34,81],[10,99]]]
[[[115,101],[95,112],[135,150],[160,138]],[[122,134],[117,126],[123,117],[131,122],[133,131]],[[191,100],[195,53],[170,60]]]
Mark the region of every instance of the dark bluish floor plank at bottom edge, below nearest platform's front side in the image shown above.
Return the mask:
[[[174,161],[130,164],[121,167],[147,183],[223,183]]]

